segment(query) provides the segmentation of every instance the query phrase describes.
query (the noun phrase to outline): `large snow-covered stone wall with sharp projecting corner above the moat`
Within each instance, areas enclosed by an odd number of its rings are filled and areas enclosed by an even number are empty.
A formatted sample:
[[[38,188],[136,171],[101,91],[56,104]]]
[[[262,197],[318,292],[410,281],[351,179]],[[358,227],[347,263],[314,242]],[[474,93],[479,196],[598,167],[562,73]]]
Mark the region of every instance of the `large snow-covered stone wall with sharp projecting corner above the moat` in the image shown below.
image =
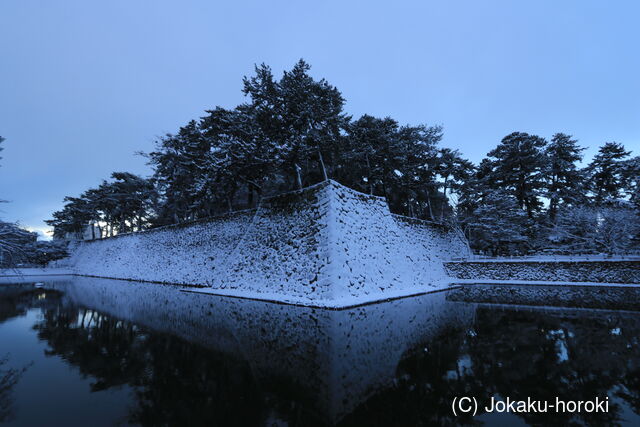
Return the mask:
[[[81,275],[348,306],[444,288],[443,261],[467,253],[456,232],[392,215],[383,198],[325,181],[253,211],[83,242],[69,264]]]

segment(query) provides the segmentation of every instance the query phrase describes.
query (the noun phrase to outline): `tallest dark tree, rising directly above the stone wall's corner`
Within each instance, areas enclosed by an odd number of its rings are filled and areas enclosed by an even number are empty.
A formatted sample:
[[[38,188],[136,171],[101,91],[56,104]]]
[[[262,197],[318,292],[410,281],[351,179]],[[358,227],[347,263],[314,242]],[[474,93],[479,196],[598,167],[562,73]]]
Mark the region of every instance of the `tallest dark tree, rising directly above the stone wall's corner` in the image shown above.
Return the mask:
[[[244,94],[265,137],[277,147],[279,165],[293,187],[326,179],[336,167],[337,144],[349,117],[344,98],[326,80],[314,80],[300,60],[275,81],[262,64],[245,77]]]

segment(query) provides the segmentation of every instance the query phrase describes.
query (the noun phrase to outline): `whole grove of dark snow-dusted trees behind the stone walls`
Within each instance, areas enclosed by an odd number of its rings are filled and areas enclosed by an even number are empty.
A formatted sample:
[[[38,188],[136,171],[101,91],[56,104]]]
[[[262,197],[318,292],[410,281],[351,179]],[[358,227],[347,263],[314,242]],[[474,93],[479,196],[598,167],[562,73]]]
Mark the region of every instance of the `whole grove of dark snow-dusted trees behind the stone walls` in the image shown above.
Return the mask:
[[[586,167],[570,135],[505,136],[479,164],[439,145],[443,129],[344,111],[300,60],[278,79],[243,80],[246,102],[206,111],[143,153],[153,174],[112,174],[66,197],[59,238],[100,238],[255,207],[260,198],[334,179],[383,196],[392,212],[459,227],[489,255],[639,249],[640,157],[604,143]],[[87,228],[87,226],[89,226]]]

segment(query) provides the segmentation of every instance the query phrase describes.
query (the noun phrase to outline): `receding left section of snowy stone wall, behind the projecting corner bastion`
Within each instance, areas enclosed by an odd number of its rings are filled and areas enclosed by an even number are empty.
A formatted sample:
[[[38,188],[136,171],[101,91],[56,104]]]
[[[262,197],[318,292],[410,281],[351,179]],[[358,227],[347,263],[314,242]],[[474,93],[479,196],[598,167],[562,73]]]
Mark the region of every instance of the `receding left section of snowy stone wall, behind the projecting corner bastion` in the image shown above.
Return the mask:
[[[75,274],[184,285],[210,285],[224,271],[253,211],[207,221],[83,241],[65,265]]]

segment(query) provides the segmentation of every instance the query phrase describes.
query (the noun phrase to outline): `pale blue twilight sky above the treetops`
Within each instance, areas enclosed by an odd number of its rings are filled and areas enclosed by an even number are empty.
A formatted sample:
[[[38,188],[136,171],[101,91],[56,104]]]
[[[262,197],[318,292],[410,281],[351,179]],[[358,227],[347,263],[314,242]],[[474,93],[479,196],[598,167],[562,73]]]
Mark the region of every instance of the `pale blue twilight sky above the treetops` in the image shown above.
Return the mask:
[[[512,131],[640,154],[637,1],[0,2],[0,218],[44,230],[65,195],[299,59],[347,112],[441,124],[479,161]]]

